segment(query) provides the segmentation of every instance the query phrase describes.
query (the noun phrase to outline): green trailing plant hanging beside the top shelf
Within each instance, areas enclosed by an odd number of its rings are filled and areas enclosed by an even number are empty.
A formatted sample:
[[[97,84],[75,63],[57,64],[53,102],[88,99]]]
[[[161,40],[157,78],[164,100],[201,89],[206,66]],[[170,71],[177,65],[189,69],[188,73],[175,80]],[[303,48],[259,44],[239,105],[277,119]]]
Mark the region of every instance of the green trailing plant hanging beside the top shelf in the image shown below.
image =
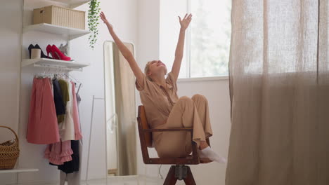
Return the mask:
[[[101,8],[99,8],[98,0],[91,0],[89,2],[89,11],[88,11],[88,27],[91,34],[89,35],[89,46],[94,48],[94,45],[97,41],[98,35],[98,19]]]

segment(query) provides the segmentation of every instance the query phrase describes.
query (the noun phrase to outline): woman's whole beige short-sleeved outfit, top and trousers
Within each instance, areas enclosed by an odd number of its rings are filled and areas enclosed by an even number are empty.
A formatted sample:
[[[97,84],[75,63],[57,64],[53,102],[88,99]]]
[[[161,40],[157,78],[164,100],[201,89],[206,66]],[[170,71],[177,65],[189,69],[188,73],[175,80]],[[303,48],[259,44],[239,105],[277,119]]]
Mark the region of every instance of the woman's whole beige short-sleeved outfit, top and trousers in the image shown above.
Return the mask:
[[[136,88],[145,107],[150,128],[191,128],[193,141],[200,145],[212,136],[208,102],[203,95],[192,98],[177,96],[176,79],[172,72],[166,78],[166,87],[143,78],[143,87],[136,81]],[[160,158],[186,157],[191,151],[191,132],[153,132],[153,146]]]

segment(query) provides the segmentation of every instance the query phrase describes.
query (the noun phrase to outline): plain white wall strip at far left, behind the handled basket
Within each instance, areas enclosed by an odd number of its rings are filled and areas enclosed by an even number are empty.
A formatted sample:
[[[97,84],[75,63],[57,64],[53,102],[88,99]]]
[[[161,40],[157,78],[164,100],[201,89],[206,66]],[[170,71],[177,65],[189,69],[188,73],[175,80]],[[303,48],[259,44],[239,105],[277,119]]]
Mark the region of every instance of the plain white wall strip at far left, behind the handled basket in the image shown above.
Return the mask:
[[[18,132],[22,1],[0,3],[0,125]],[[14,137],[11,131],[0,128],[0,143]],[[14,178],[14,174],[0,174],[0,184],[11,183]]]

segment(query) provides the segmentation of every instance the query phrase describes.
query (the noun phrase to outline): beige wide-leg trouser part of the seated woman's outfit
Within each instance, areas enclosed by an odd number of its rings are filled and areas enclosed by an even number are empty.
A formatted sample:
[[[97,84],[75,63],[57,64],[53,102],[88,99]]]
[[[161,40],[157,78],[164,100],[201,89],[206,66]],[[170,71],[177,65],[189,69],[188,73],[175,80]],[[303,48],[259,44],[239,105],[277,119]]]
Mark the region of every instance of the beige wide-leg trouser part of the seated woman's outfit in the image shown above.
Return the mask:
[[[167,122],[159,125],[163,128],[193,128],[193,142],[212,136],[209,121],[209,107],[205,96],[181,97],[169,114]],[[155,150],[160,158],[186,157],[192,152],[191,132],[153,132]]]

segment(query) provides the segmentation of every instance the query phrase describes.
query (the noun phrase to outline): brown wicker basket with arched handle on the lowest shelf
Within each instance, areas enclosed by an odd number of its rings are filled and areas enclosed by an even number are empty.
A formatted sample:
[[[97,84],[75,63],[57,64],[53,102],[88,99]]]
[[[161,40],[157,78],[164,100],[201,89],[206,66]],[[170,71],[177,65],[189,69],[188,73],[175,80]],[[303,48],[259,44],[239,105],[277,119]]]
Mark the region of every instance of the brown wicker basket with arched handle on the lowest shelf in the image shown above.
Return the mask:
[[[0,126],[0,128],[8,128]],[[18,136],[11,128],[8,128],[14,133],[16,139],[9,140],[0,144],[0,170],[10,170],[15,167],[18,156],[20,156],[20,148],[18,143]]]

